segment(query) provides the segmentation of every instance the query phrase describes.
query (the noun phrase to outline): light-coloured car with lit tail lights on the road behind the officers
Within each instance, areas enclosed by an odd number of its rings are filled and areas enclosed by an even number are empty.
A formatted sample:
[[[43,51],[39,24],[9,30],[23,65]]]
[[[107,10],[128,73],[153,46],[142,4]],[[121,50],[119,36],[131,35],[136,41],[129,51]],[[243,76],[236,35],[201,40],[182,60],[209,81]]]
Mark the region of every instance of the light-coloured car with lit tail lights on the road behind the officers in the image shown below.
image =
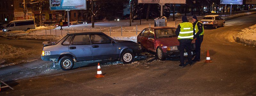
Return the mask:
[[[210,26],[213,28],[218,28],[218,26],[225,26],[225,19],[221,18],[219,15],[207,15],[201,20],[205,26]]]

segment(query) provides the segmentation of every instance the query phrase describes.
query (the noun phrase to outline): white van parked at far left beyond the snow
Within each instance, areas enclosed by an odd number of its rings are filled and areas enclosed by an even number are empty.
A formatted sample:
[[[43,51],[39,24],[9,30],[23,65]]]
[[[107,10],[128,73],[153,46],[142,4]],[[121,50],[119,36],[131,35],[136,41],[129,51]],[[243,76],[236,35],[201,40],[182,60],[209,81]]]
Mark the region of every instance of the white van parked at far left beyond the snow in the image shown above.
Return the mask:
[[[29,30],[29,29],[35,29],[35,23],[34,20],[16,20],[11,21],[9,24],[3,29],[3,32],[7,31],[15,31],[15,30]]]

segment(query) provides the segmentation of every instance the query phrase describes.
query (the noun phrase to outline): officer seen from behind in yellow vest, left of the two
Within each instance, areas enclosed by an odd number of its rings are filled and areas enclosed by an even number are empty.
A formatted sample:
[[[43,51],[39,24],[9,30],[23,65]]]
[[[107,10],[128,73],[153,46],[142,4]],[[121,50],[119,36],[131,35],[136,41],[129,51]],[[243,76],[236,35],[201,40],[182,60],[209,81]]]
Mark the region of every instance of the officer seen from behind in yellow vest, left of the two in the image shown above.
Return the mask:
[[[180,42],[180,67],[185,67],[184,65],[184,50],[188,54],[188,63],[192,63],[192,54],[191,54],[191,42],[193,40],[193,24],[188,22],[186,16],[182,16],[182,23],[179,24],[178,28],[175,31],[178,36],[178,41]]]

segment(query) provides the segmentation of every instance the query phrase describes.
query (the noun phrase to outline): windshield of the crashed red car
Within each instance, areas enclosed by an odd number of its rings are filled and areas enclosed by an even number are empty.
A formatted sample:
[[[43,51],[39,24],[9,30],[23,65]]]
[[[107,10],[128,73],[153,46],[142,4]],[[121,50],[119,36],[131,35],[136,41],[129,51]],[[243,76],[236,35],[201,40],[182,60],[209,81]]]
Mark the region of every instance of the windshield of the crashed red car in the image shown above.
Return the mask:
[[[176,36],[174,29],[156,29],[156,38]]]

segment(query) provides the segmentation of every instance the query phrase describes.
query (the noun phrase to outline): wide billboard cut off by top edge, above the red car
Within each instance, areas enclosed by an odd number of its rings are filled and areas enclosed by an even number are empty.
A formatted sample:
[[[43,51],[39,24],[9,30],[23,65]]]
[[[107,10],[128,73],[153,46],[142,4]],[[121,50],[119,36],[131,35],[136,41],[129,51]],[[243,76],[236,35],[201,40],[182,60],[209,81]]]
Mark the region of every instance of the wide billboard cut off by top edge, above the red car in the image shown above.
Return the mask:
[[[138,3],[186,4],[186,0],[138,0]]]

